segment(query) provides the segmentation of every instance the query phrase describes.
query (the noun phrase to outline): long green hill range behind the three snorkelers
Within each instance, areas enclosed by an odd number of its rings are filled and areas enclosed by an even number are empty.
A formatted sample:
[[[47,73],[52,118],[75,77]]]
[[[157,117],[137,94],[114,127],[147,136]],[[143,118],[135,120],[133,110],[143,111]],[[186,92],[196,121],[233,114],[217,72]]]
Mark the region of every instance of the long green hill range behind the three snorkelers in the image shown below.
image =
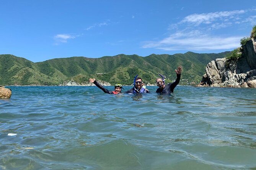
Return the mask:
[[[130,85],[136,74],[146,83],[154,83],[158,74],[167,82],[176,79],[175,69],[183,68],[180,84],[197,84],[205,73],[205,65],[228,52],[198,54],[187,52],[175,55],[104,56],[101,58],[56,58],[33,63],[13,55],[0,55],[0,85],[59,85],[64,81],[88,82],[94,77],[114,85]]]

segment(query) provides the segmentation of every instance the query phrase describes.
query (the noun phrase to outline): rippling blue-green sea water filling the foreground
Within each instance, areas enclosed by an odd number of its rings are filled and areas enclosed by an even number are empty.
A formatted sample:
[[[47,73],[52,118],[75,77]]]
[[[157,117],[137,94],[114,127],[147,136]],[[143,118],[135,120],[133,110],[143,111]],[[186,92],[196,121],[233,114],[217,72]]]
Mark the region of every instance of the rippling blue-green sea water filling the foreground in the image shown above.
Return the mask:
[[[256,89],[8,88],[11,99],[0,99],[0,169],[256,169]]]

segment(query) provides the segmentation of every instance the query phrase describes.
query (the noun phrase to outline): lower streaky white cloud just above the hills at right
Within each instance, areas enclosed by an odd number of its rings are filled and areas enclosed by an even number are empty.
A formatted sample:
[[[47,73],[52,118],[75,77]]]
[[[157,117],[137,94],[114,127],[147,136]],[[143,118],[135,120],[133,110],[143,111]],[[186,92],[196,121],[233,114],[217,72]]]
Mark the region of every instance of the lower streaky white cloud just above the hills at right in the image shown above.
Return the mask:
[[[157,48],[166,51],[173,50],[222,50],[239,47],[241,37],[214,37],[202,34],[199,30],[188,33],[176,32],[158,42],[145,42],[142,48]]]

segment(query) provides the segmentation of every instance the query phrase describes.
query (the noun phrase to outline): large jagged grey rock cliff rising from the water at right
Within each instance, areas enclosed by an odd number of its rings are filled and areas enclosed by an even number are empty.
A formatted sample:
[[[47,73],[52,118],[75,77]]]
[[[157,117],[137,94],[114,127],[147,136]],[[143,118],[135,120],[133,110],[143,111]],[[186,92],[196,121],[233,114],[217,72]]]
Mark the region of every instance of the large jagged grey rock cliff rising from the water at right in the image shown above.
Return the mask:
[[[207,64],[205,72],[197,87],[256,88],[256,39],[246,42],[237,61],[215,59]]]

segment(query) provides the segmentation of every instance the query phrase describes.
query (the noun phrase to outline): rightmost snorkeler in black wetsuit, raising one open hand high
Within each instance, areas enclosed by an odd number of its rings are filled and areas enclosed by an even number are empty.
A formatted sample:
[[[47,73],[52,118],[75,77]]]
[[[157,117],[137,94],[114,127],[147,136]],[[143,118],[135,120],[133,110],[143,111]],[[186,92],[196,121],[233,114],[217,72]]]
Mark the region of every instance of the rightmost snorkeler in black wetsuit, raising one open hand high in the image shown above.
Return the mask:
[[[181,67],[178,67],[178,69],[175,70],[175,72],[177,74],[177,79],[175,82],[169,83],[168,85],[165,84],[165,77],[163,77],[163,75],[159,74],[161,76],[161,78],[157,78],[157,80],[156,80],[156,83],[158,86],[156,93],[161,93],[161,94],[173,93],[174,88],[176,87],[176,85],[179,84],[179,80],[181,79],[181,71],[182,71]]]

